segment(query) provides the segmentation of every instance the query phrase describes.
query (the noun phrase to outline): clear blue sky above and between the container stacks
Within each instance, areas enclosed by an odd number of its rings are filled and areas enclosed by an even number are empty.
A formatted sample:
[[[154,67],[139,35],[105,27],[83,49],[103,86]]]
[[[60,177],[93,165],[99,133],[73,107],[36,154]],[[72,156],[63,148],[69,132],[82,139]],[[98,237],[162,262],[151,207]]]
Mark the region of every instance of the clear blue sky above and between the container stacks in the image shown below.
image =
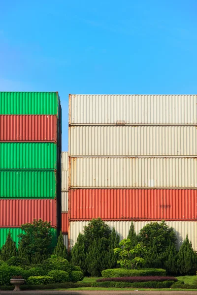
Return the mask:
[[[196,0],[1,0],[0,91],[197,93]]]

